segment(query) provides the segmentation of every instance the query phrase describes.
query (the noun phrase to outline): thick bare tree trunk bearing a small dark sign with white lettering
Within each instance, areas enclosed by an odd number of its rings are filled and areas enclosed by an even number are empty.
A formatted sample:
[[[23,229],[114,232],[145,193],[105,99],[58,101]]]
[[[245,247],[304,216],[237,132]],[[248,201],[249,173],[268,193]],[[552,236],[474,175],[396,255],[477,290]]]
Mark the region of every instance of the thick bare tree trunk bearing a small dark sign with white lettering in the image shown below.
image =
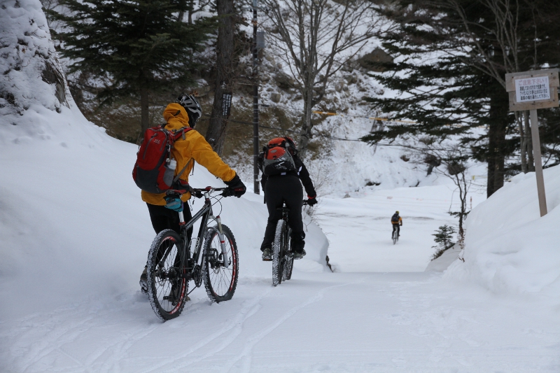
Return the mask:
[[[216,1],[219,17],[216,43],[216,90],[206,139],[218,155],[222,154],[229,113],[224,110],[223,95],[232,92],[232,61],[235,17],[233,0]]]

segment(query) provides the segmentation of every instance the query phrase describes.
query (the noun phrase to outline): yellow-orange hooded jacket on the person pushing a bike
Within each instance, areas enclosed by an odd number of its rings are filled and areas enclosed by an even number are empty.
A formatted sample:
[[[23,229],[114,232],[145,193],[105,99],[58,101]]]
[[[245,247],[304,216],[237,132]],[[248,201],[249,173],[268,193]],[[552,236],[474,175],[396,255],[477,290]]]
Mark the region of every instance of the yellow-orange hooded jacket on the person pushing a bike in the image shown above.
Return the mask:
[[[165,111],[163,111],[163,118],[167,122],[166,129],[181,129],[183,127],[190,127],[188,125],[188,115],[185,108],[179,104],[169,104]],[[185,167],[191,160],[195,160],[202,166],[206,167],[208,171],[214,176],[221,178],[223,181],[231,181],[235,178],[235,171],[232,170],[228,164],[225,164],[220,156],[212,150],[210,144],[204,137],[195,129],[185,133],[185,139],[179,138],[175,141],[171,150],[172,157],[177,161],[175,175]],[[183,171],[180,176],[181,180],[188,182],[188,174],[193,169],[195,163],[190,162],[188,167]],[[148,204],[155,204],[165,206],[165,193],[155,194],[142,190],[142,200]],[[181,199],[186,202],[190,198],[190,193],[184,194]]]

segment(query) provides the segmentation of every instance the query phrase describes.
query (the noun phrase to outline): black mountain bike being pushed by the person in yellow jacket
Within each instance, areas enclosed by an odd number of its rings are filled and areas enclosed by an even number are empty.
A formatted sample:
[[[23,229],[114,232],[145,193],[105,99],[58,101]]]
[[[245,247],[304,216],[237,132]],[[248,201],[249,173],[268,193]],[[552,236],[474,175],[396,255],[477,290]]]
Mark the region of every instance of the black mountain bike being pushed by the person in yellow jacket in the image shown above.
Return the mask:
[[[212,192],[226,189],[192,190],[194,197],[204,197],[202,209],[188,222],[185,222],[183,212],[179,213],[181,234],[163,230],[153,240],[146,269],[148,297],[153,311],[162,321],[181,314],[190,294],[188,283],[191,280],[196,288],[204,282],[211,302],[230,300],[235,293],[239,274],[237,244],[230,228],[221,223],[220,216],[214,216],[211,203]],[[188,190],[168,190],[166,195],[181,197],[186,192]],[[188,241],[187,230],[200,218],[197,237]],[[216,225],[208,227],[209,220],[214,220]],[[191,241],[194,241],[193,251]]]

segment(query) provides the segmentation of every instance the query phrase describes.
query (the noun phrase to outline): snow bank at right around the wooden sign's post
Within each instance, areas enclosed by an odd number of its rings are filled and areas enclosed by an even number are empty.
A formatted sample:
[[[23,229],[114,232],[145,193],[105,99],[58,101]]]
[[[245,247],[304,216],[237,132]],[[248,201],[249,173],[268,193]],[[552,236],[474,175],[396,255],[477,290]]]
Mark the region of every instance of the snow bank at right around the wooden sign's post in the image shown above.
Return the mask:
[[[477,281],[496,293],[560,291],[560,166],[545,169],[548,214],[540,218],[535,173],[519,174],[466,221],[465,262],[447,279]]]

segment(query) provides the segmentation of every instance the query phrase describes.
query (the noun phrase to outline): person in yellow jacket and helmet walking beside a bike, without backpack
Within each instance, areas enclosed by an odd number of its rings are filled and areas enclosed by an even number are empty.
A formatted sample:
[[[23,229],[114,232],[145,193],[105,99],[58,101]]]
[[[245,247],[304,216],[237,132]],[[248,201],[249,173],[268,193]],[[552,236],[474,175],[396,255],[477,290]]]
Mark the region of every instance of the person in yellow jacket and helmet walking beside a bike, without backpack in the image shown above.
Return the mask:
[[[194,128],[201,115],[202,108],[197,99],[192,95],[181,94],[176,102],[167,105],[163,111],[163,118],[167,122],[165,128],[169,130],[178,130],[183,127]],[[206,139],[195,130],[185,132],[184,138],[175,141],[171,155],[177,161],[175,175],[187,166],[177,181],[178,185],[173,185],[172,188],[188,189],[188,175],[197,162],[206,167],[211,174],[221,178],[228,185],[230,195],[241,197],[246,191],[244,183],[241,182],[235,171],[223,162]],[[181,233],[179,211],[183,211],[183,202],[187,202],[188,199],[190,199],[190,193],[185,193],[181,199],[166,199],[165,193],[155,194],[142,190],[142,200],[148,205],[150,219],[156,234],[166,229]],[[183,215],[185,221],[193,217],[190,209],[185,209]],[[189,240],[192,232],[193,228],[190,228]],[[146,268],[144,268],[140,277],[142,290],[147,290],[146,280]]]

